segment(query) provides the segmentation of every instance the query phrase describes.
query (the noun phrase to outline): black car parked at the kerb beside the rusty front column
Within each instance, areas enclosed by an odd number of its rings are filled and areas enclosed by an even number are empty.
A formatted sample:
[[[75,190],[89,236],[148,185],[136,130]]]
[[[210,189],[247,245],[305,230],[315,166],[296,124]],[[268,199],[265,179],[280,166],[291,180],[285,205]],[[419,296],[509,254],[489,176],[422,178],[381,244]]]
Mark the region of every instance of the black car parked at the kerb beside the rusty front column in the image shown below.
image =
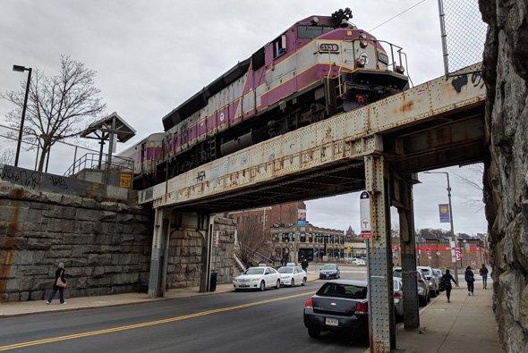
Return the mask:
[[[320,332],[345,332],[369,337],[369,305],[366,281],[332,280],[304,305],[303,321],[311,338]]]

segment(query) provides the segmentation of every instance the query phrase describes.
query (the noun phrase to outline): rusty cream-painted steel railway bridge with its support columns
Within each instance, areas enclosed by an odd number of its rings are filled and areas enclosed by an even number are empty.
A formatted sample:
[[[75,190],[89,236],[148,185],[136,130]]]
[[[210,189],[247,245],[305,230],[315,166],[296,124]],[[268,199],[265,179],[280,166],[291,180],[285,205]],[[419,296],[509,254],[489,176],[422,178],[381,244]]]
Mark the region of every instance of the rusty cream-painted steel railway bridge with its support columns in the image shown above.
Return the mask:
[[[202,231],[207,249],[200,290],[209,290],[210,214],[366,190],[372,236],[370,349],[396,347],[389,207],[396,206],[399,214],[405,328],[418,328],[413,184],[417,172],[472,164],[488,153],[480,67],[337,114],[142,190],[139,203],[156,210],[149,294],[158,295],[159,258],[174,227]]]

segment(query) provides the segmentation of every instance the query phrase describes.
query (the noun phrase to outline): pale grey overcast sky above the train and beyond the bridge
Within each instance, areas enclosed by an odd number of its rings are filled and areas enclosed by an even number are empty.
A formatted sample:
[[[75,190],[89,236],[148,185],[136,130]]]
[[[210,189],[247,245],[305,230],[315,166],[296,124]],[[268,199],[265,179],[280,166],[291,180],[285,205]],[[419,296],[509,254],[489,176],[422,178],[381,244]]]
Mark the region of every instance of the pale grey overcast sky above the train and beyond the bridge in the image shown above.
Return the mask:
[[[404,47],[414,85],[443,74],[437,0],[313,1],[268,0],[2,0],[0,3],[0,91],[19,88],[26,73],[13,64],[57,73],[60,55],[70,55],[98,72],[107,112],[117,112],[137,130],[136,138],[118,151],[163,130],[161,118],[200,88],[273,40],[295,21],[329,15],[350,7],[353,23],[374,29],[379,39]],[[0,100],[0,122],[13,107]],[[5,130],[0,128],[4,134]],[[1,148],[15,148],[0,139]],[[97,144],[87,141],[97,149]],[[84,152],[78,152],[78,155]],[[73,162],[72,147],[53,147],[48,172],[62,174]],[[21,153],[19,165],[33,168],[35,153]],[[455,231],[486,232],[478,189],[456,174],[469,168],[451,167]],[[443,228],[438,204],[447,203],[445,175],[420,174],[414,189],[416,228]],[[359,231],[359,194],[307,202],[307,219],[320,227]],[[397,219],[393,219],[393,222]]]

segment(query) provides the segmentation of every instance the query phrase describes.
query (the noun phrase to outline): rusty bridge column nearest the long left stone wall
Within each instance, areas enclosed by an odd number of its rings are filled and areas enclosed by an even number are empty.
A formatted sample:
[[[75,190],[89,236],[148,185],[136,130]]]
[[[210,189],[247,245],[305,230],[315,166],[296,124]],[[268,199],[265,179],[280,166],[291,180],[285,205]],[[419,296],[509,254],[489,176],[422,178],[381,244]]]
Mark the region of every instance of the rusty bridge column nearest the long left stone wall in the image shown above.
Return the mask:
[[[164,255],[166,240],[170,222],[167,218],[167,210],[157,208],[154,221],[154,234],[152,238],[152,252],[150,255],[149,274],[149,297],[161,297],[163,295],[162,278],[164,277]]]

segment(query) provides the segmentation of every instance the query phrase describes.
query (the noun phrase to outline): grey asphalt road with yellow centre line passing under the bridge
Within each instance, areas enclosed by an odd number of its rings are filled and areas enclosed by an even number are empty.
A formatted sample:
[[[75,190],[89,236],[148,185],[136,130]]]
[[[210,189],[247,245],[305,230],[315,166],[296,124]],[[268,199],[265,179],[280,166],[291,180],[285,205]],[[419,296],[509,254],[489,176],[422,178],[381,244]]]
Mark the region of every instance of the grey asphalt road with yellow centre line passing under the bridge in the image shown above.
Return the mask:
[[[345,270],[341,277],[364,279],[365,275]],[[331,333],[318,340],[308,337],[302,308],[321,283],[15,316],[0,321],[0,351],[364,352],[366,343]]]

